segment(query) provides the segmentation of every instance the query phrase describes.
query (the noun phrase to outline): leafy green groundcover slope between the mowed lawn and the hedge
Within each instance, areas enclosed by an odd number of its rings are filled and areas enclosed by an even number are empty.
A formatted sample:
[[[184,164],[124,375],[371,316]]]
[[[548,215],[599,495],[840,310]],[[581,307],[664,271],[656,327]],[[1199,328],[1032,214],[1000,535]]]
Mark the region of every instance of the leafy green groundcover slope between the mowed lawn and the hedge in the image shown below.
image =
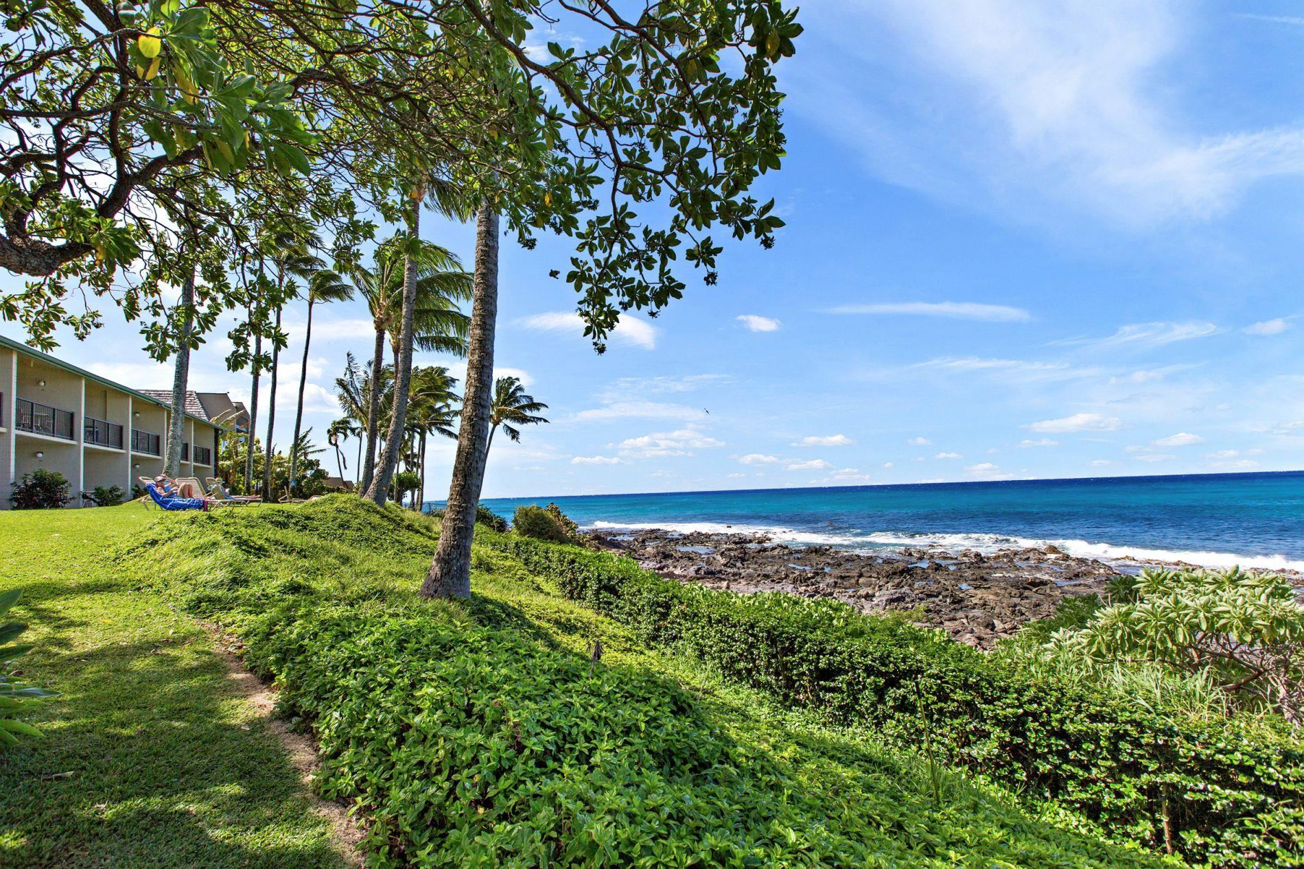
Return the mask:
[[[1158,857],[644,649],[512,556],[415,589],[425,519],[356,498],[170,517],[124,551],[240,636],[376,865],[1140,866]],[[605,653],[592,662],[595,642]]]

